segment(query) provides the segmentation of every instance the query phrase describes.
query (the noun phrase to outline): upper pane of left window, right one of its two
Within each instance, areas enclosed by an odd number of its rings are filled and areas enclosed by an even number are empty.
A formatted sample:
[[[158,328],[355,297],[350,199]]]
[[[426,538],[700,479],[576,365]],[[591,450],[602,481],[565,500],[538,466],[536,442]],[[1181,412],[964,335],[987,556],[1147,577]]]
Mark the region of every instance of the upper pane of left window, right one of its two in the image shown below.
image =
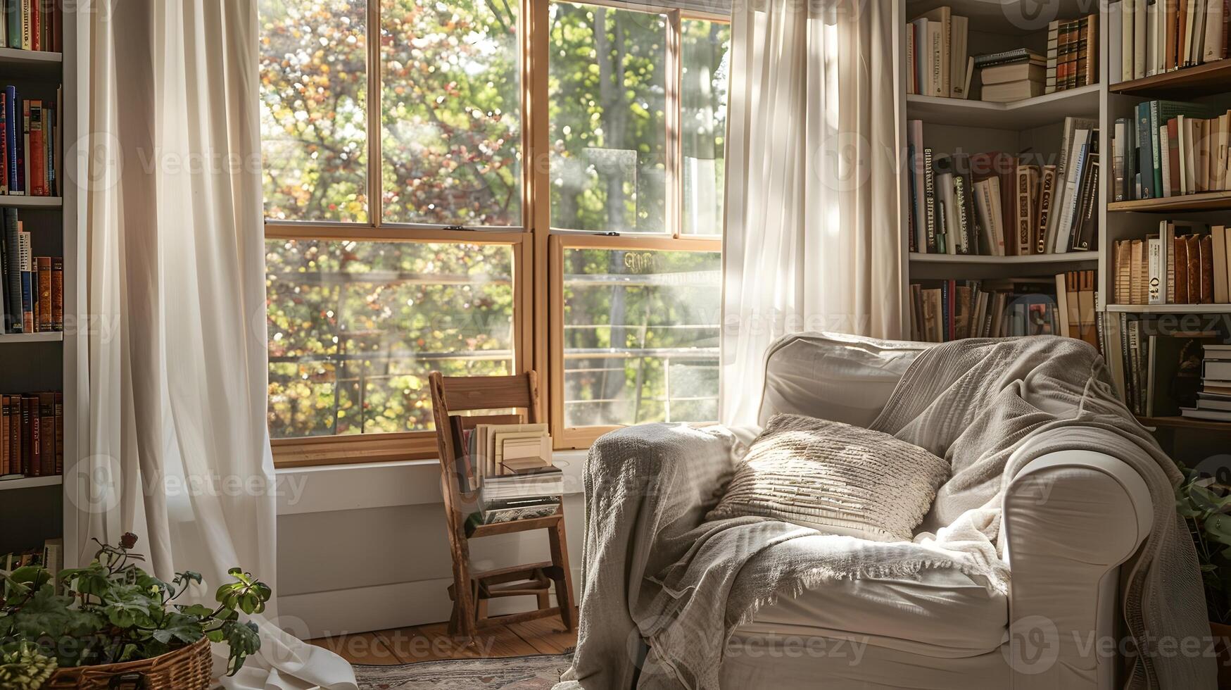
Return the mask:
[[[516,7],[383,0],[385,221],[522,224]]]

